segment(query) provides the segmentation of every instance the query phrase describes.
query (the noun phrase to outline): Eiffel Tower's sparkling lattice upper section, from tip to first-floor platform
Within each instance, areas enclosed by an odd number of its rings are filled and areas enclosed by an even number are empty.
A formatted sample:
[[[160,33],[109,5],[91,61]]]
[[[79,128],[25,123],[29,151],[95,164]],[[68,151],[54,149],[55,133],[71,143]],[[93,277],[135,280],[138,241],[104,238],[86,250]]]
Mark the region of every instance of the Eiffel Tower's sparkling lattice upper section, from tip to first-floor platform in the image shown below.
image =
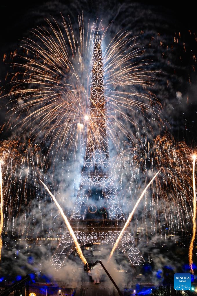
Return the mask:
[[[109,174],[102,31],[95,29],[93,38],[89,126],[85,130],[84,164],[71,219],[120,220],[123,214],[113,178]]]

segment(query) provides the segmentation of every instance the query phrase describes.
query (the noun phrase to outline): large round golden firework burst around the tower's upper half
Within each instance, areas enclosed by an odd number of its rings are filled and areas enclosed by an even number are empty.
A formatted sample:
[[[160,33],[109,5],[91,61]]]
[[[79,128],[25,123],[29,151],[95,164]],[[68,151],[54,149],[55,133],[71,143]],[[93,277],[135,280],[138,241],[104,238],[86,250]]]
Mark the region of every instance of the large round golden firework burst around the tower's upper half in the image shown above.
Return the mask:
[[[82,126],[87,128],[87,133],[93,134],[99,144],[102,127],[107,122],[108,136],[119,149],[119,139],[114,136],[116,129],[126,136],[131,134],[125,120],[129,126],[132,124],[143,130],[141,120],[132,119],[125,110],[139,112],[146,122],[150,115],[159,117],[158,122],[161,120],[159,101],[146,90],[154,84],[154,72],[146,70],[149,61],[140,61],[142,49],[135,48],[135,37],[131,37],[130,32],[118,32],[103,52],[106,113],[102,114],[100,104],[95,104],[94,112],[89,112],[88,107],[92,57],[96,54],[92,54],[94,30],[88,25],[85,33],[83,16],[79,16],[76,34],[64,18],[62,29],[55,20],[54,24],[46,22],[50,30],[47,27],[35,30],[38,44],[31,39],[25,40],[22,48],[27,55],[17,55],[19,61],[13,63],[18,72],[11,78],[11,90],[6,96],[13,96],[13,102],[18,102],[13,107],[19,116],[14,128],[28,128],[32,137],[44,133],[43,139],[51,138],[51,148],[58,142],[62,149],[66,144],[76,150],[81,139],[76,126],[81,127],[81,131]],[[102,40],[107,30],[103,32]],[[21,58],[25,59],[25,64],[20,62]],[[130,91],[128,86],[131,86]],[[138,92],[139,86],[143,87],[143,94]],[[84,120],[87,114],[88,121]],[[38,120],[37,125],[32,118]],[[100,125],[96,124],[98,118],[103,119]]]

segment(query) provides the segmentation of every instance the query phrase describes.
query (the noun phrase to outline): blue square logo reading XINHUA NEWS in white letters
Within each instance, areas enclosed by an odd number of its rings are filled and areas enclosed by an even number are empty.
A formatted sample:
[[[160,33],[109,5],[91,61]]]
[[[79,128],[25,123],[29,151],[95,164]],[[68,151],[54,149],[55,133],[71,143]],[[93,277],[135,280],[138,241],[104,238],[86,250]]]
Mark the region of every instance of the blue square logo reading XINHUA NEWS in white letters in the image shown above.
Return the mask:
[[[174,274],[174,289],[181,291],[191,290],[191,274],[186,272]]]

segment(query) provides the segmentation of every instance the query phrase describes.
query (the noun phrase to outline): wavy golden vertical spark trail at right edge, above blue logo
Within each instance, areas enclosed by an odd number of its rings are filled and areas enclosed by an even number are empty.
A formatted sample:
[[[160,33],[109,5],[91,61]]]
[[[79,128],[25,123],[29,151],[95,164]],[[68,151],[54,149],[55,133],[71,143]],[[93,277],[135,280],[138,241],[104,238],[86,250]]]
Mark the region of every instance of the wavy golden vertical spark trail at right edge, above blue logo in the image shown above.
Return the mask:
[[[190,266],[190,270],[191,273],[194,274],[193,271],[193,260],[192,260],[192,256],[193,256],[193,243],[194,243],[194,239],[196,237],[196,186],[195,186],[195,161],[196,161],[196,155],[193,155],[193,235],[192,235],[192,239],[191,239],[191,243],[190,243],[190,247],[189,247],[189,266]]]

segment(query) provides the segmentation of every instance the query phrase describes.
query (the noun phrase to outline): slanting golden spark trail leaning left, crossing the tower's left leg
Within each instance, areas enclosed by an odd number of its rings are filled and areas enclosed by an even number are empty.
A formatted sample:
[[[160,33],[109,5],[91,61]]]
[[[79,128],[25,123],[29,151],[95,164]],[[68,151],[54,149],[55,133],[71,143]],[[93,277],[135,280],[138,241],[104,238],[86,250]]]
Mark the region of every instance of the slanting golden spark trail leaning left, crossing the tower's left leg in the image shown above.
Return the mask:
[[[72,227],[70,226],[70,223],[69,223],[68,219],[66,218],[66,215],[64,214],[64,212],[63,212],[61,206],[58,204],[56,198],[53,196],[53,194],[52,194],[51,191],[48,189],[48,187],[47,187],[47,186],[46,186],[41,180],[40,180],[40,182],[44,185],[44,187],[46,188],[47,192],[51,195],[51,197],[52,197],[53,201],[55,202],[56,206],[58,207],[58,209],[59,209],[59,211],[60,211],[62,217],[64,218],[64,221],[65,221],[66,226],[67,226],[67,228],[68,228],[68,230],[69,230],[69,233],[70,233],[71,237],[72,237],[73,240],[74,240],[74,244],[75,244],[75,247],[76,247],[77,253],[78,253],[78,255],[79,255],[79,258],[82,260],[82,262],[84,263],[84,265],[87,264],[87,261],[86,261],[84,255],[83,255],[83,253],[82,253],[82,250],[81,250],[81,248],[80,248],[80,246],[79,246],[79,243],[78,243],[78,241],[77,241],[77,239],[76,239],[76,236],[75,236],[75,234],[74,234],[74,231],[72,230]]]

